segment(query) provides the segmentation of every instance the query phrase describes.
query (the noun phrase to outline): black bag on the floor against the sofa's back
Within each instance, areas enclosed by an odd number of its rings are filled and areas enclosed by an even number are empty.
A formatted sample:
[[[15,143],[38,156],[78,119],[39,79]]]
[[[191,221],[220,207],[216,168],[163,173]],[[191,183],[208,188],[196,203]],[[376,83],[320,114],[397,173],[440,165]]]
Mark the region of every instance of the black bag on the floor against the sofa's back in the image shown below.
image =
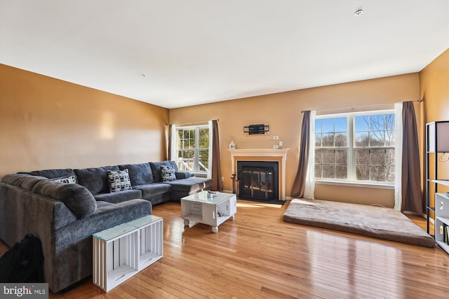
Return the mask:
[[[1,256],[0,282],[45,282],[39,238],[28,234]]]

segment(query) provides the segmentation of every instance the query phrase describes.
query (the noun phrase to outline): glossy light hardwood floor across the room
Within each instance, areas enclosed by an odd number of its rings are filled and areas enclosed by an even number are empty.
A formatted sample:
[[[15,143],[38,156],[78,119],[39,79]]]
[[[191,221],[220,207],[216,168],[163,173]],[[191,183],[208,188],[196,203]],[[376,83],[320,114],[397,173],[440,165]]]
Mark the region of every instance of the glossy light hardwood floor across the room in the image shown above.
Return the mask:
[[[449,298],[449,255],[282,221],[284,206],[238,201],[234,221],[163,217],[163,258],[105,293],[91,278],[50,298]],[[425,219],[410,216],[425,229]],[[0,245],[0,253],[6,247]]]

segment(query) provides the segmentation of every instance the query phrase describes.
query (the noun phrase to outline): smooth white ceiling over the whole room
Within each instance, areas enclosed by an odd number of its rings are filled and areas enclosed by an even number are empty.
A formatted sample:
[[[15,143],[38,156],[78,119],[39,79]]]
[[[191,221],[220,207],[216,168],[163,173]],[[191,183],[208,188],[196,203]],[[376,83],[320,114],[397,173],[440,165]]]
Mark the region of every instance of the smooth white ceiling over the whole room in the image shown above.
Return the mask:
[[[447,48],[449,0],[0,0],[1,64],[166,108],[413,73]]]

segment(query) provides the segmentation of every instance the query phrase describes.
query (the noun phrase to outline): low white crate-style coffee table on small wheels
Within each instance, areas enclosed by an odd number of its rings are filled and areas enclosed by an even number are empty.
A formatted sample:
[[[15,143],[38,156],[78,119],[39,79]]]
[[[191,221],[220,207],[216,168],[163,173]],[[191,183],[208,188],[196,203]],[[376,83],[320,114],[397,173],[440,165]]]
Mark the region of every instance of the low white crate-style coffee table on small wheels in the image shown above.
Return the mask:
[[[190,221],[212,226],[212,232],[218,232],[218,225],[234,220],[237,212],[237,197],[232,193],[215,192],[210,195],[208,191],[201,191],[194,195],[181,198],[181,217],[184,225]]]

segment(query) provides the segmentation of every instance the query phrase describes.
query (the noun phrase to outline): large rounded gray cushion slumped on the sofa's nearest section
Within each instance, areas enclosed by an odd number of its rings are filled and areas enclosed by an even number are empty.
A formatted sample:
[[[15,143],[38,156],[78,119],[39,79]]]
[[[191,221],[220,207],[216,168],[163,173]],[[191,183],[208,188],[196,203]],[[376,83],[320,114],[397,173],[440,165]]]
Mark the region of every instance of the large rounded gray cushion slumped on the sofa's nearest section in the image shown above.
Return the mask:
[[[78,184],[39,181],[32,191],[64,202],[80,219],[91,216],[97,210],[97,202],[92,193]]]

